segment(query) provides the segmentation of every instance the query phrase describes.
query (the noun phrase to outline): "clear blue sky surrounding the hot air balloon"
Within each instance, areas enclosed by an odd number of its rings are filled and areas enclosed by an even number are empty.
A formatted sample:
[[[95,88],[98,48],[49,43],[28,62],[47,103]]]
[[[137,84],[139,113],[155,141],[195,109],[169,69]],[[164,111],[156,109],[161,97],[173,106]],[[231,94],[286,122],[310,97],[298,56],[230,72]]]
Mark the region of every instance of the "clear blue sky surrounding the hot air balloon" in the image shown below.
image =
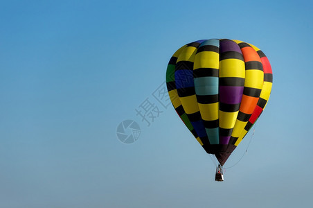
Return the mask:
[[[1,1],[0,207],[310,207],[312,1]],[[247,155],[215,165],[152,96],[172,53],[229,38],[274,73]],[[163,111],[147,127],[145,99]],[[135,120],[134,144],[116,137]],[[238,162],[249,134],[225,166]]]

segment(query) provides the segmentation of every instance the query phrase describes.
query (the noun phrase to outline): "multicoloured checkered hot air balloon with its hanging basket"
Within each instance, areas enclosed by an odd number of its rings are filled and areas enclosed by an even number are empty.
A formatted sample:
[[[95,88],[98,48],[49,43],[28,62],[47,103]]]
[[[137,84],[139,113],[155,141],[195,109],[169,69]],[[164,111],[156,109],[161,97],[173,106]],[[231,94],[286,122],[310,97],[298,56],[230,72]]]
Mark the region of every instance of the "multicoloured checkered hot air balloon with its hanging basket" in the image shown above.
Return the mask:
[[[267,105],[272,80],[265,54],[239,40],[198,40],[170,58],[170,101],[206,153],[220,163],[215,180],[223,180],[222,166]]]

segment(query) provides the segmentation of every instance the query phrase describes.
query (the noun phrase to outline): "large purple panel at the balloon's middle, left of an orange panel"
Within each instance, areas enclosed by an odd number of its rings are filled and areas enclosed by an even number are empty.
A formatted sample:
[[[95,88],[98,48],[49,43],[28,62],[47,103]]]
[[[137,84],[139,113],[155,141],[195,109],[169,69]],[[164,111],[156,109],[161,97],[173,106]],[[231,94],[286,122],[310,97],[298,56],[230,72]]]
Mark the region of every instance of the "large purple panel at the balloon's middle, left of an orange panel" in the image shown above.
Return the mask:
[[[244,87],[220,86],[220,102],[238,104],[241,102]]]

